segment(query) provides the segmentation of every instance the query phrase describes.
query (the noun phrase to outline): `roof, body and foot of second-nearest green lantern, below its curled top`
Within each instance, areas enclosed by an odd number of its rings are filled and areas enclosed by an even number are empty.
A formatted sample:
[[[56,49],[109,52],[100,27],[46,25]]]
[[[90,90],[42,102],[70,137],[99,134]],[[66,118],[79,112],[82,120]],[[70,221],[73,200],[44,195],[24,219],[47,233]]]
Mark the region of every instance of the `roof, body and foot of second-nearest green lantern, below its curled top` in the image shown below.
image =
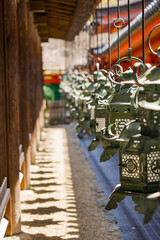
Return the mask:
[[[120,148],[119,135],[131,120],[136,119],[137,110],[132,106],[130,95],[136,91],[133,84],[117,85],[114,93],[106,102],[107,127],[101,132],[101,144],[104,152],[100,161],[107,161]]]

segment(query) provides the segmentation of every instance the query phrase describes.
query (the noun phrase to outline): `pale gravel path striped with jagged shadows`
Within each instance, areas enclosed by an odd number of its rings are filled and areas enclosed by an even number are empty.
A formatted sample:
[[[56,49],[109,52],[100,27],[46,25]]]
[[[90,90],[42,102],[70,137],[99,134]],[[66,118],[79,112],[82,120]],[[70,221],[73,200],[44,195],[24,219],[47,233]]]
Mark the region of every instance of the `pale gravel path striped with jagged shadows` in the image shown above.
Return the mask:
[[[22,232],[4,239],[115,240],[121,231],[69,125],[43,129],[31,188],[22,191]]]

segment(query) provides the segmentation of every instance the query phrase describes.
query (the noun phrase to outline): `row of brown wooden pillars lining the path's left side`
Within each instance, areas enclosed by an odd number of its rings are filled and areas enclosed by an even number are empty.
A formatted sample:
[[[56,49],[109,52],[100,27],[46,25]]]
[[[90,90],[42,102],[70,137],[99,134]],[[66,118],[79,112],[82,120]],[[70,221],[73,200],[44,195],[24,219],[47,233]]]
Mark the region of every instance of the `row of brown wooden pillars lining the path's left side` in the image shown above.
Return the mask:
[[[42,59],[28,0],[0,0],[0,29],[0,191],[7,177],[11,235],[21,231],[20,190],[29,188],[43,127]]]

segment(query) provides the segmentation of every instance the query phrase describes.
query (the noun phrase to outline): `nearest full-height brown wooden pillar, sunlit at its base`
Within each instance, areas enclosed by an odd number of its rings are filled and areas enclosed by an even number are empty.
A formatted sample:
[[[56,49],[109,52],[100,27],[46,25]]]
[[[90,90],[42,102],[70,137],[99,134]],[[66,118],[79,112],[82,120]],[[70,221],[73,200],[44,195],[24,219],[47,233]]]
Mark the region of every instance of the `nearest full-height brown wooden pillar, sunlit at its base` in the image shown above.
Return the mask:
[[[21,230],[19,181],[19,61],[17,36],[17,0],[5,0],[4,31],[6,58],[7,155],[8,179],[11,190],[12,233]]]

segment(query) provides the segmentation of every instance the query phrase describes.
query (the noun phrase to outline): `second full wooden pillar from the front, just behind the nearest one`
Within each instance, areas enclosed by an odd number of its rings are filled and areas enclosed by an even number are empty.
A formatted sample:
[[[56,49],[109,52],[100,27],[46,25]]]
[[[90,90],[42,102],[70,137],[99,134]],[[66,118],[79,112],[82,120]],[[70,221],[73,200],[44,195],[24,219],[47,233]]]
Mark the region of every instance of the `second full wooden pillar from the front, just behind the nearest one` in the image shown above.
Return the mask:
[[[19,86],[20,86],[20,141],[25,155],[23,189],[30,185],[30,87],[29,87],[29,53],[28,53],[28,5],[27,0],[20,0],[18,4],[18,32],[19,32]]]

